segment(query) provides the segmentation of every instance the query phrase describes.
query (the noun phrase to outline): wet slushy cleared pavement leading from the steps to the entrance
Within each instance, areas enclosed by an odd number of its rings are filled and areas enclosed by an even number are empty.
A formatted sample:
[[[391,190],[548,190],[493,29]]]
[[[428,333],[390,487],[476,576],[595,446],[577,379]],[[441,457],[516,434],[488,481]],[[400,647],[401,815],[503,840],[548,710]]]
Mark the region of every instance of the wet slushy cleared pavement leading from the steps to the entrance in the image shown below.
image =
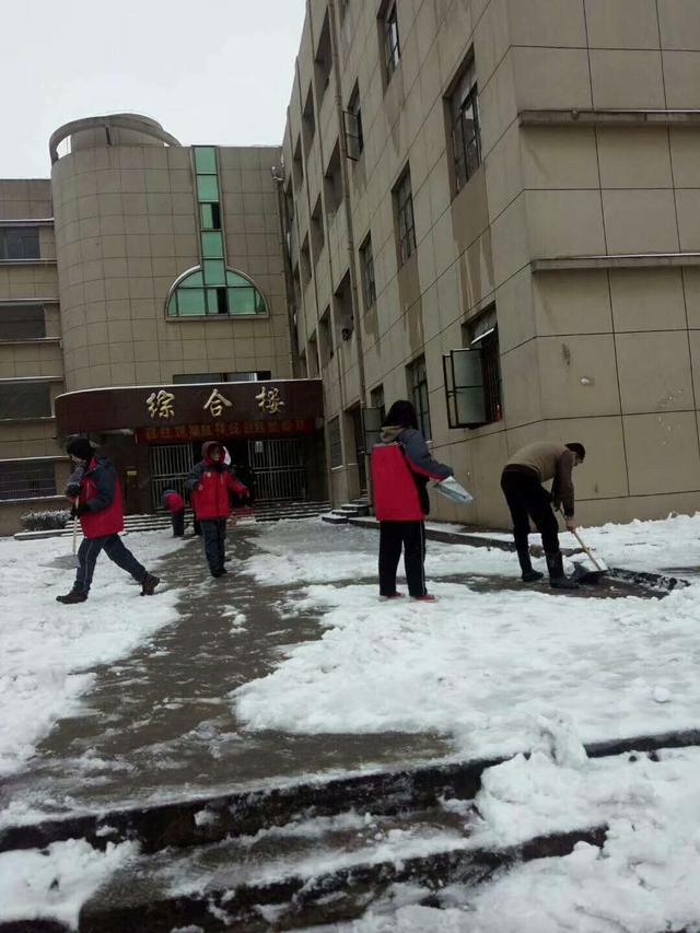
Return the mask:
[[[359,548],[369,541],[375,546],[375,533],[348,532]],[[334,546],[347,550],[348,532],[334,538],[319,526],[312,535],[318,535],[319,547],[328,552]],[[285,608],[304,584],[260,586],[235,572],[257,550],[257,534],[255,526],[230,534],[233,559],[221,580],[205,575],[199,539],[161,561],[163,580],[183,590],[177,621],[124,661],[95,668],[95,685],[79,713],[57,723],[26,770],[4,781],[0,805],[21,800],[59,815],[451,754],[448,739],[439,735],[293,735],[242,728],[231,691],[272,670],[287,645],[323,632],[316,616]],[[522,590],[513,576],[441,580],[467,583],[477,592]],[[376,583],[376,578],[352,582]],[[532,588],[551,593],[546,581]],[[561,595],[652,594],[604,580]]]

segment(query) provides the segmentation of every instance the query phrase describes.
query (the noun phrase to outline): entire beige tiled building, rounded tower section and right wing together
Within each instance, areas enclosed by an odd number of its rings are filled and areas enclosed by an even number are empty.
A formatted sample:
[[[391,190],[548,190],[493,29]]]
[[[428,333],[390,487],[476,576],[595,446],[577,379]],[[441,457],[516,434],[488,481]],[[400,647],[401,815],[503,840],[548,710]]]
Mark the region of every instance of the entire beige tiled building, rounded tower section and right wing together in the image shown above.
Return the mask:
[[[505,525],[547,438],[588,450],[584,523],[698,508],[697,0],[310,0],[281,152],[133,115],[50,150],[0,183],[0,530],[69,430],[150,510],[207,427],[253,456],[285,422],[294,492],[339,504],[400,397],[475,495],[436,517]]]

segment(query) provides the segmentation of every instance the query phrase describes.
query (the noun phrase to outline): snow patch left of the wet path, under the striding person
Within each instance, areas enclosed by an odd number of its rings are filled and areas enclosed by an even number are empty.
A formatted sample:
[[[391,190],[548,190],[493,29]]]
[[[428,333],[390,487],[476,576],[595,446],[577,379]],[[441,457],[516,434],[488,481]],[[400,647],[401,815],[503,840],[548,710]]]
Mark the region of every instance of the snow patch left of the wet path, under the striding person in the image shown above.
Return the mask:
[[[154,534],[129,535],[126,544],[151,570],[180,547]],[[74,567],[56,567],[70,547],[67,538],[0,540],[0,775],[16,771],[57,720],[75,713],[94,680],[85,672],[124,657],[177,618],[176,590],[159,587],[142,598],[136,581],[104,555],[88,602],[57,603],[74,580]]]

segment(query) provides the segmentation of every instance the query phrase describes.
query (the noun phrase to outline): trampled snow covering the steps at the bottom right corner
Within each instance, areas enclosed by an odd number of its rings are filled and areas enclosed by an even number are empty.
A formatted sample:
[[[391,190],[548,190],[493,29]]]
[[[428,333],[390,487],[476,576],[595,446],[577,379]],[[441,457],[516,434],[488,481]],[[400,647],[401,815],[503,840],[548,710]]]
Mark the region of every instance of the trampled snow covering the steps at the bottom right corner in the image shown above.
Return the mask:
[[[545,727],[545,732],[547,727]],[[558,742],[575,736],[556,725]],[[550,735],[551,738],[551,735]],[[557,744],[555,742],[555,745]],[[545,743],[546,745],[546,743]],[[425,888],[397,885],[352,933],[658,933],[700,929],[700,749],[561,766],[542,747],[483,774],[476,798],[482,823],[469,847],[521,843],[535,836],[607,825],[603,849],[580,842],[563,858],[502,871],[480,888],[451,885],[443,909],[420,906]],[[328,928],[320,928],[328,929]]]

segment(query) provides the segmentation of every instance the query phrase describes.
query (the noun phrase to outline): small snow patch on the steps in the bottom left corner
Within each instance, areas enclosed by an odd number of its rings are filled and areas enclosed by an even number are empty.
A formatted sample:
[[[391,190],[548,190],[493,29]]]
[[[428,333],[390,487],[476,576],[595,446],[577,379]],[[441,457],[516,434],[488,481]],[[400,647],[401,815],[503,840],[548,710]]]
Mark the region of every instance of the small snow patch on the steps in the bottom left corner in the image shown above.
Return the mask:
[[[69,839],[0,854],[0,922],[57,920],[77,930],[83,903],[137,853],[136,842],[108,842],[102,852]]]

